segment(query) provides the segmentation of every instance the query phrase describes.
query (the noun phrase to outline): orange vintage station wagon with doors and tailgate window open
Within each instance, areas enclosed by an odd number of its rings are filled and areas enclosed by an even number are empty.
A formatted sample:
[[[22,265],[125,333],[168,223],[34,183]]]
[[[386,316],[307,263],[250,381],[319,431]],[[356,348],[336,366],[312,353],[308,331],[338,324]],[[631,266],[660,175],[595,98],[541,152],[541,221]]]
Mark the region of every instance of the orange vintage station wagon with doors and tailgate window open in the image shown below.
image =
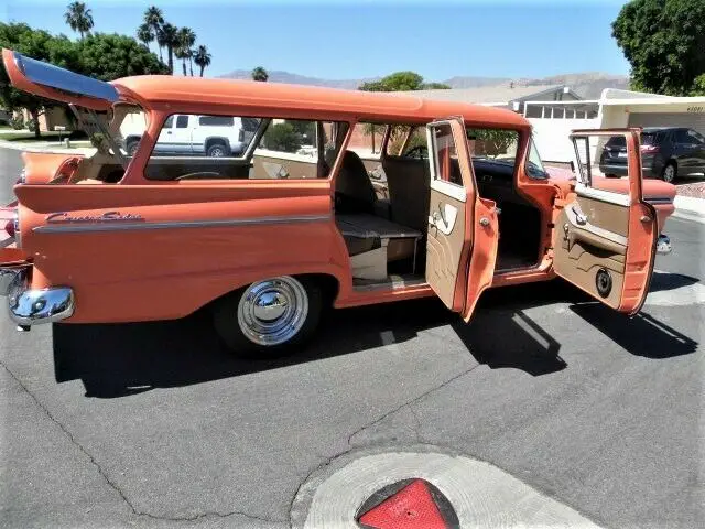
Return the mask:
[[[615,311],[644,302],[675,187],[643,181],[639,129],[572,136],[550,176],[510,110],[281,84],[104,83],[2,52],[13,86],[68,105],[91,155],[24,153],[0,249],[21,330],[180,319],[236,352],[310,337],[322,310],[480,294],[561,277]],[[377,134],[373,150],[360,147]],[[628,179],[598,171],[626,139]]]

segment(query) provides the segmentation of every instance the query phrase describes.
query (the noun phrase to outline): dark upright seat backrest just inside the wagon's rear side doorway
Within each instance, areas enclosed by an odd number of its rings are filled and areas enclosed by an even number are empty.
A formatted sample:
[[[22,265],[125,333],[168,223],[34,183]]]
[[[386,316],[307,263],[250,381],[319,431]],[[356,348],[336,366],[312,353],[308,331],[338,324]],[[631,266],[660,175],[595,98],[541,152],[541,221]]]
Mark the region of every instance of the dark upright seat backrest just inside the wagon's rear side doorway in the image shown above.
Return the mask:
[[[377,199],[377,193],[362,160],[354,151],[346,150],[335,181],[336,212],[373,215]]]

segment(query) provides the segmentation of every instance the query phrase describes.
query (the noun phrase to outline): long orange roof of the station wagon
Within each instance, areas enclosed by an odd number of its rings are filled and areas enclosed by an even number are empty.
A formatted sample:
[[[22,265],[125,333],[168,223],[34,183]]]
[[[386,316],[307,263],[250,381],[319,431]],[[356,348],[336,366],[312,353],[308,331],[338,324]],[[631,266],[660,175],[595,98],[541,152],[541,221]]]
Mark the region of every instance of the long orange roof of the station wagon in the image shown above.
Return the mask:
[[[230,107],[240,107],[243,115],[274,112],[280,115],[275,117],[282,118],[427,122],[463,116],[468,125],[512,129],[531,127],[523,116],[509,109],[436,101],[413,95],[165,75],[123,77],[111,84],[121,99],[133,100],[145,108],[182,114],[224,114]]]

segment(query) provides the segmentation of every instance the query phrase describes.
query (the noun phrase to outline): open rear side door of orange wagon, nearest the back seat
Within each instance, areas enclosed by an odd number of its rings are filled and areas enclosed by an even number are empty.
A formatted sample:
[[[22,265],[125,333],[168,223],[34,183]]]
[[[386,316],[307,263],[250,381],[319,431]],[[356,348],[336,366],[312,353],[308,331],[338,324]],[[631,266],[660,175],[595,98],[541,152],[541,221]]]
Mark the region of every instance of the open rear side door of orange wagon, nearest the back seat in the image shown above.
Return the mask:
[[[431,204],[426,281],[443,303],[469,321],[491,284],[499,241],[495,203],[477,196],[462,119],[427,126]]]

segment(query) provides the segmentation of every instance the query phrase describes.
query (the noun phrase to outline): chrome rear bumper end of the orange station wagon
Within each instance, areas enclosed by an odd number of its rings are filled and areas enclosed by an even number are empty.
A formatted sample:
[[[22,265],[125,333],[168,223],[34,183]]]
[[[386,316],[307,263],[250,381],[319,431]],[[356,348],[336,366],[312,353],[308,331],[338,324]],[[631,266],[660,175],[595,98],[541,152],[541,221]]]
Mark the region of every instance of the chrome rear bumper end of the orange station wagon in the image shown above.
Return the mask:
[[[0,269],[0,295],[8,298],[10,319],[23,328],[58,322],[74,313],[72,289],[28,289],[25,269]]]

